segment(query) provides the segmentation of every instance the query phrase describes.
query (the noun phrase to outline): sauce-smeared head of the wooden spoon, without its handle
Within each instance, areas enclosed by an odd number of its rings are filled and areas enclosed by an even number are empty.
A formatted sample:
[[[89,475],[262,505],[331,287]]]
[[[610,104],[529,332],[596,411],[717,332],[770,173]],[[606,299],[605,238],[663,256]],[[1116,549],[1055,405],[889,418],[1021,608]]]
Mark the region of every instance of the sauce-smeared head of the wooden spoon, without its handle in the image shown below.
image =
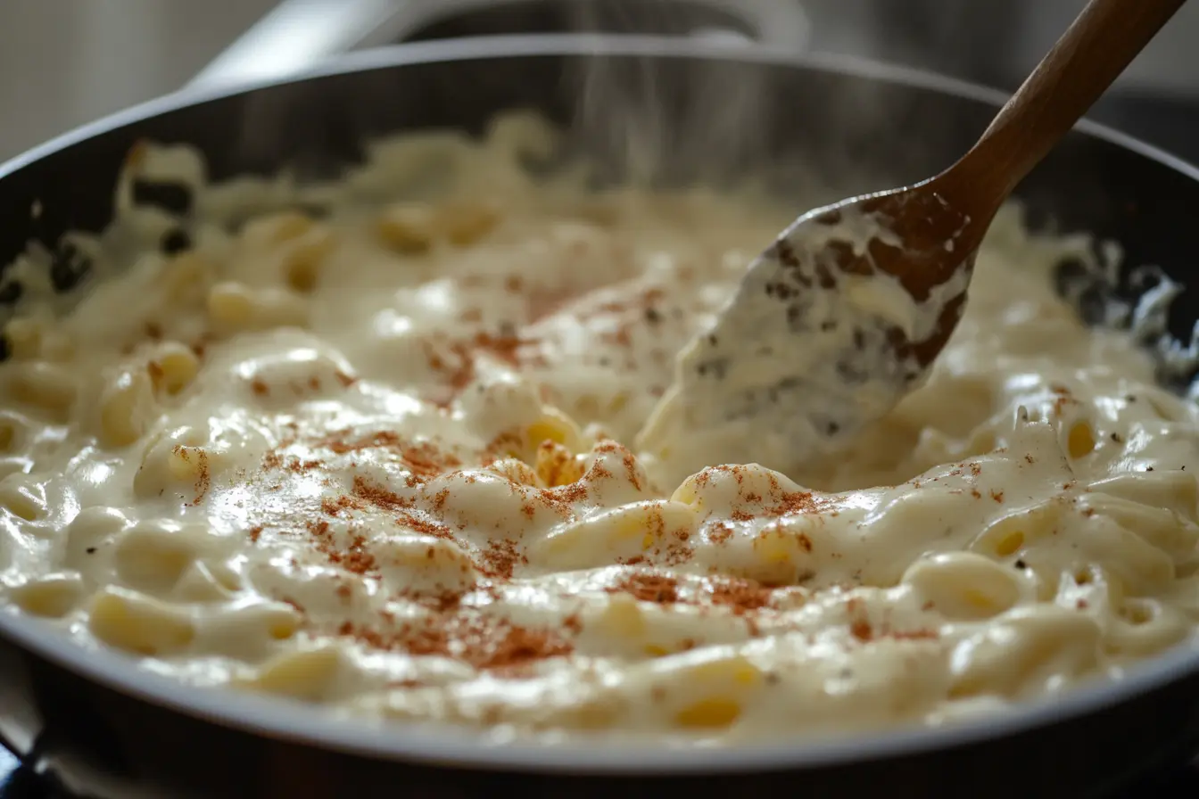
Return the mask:
[[[935,181],[803,214],[680,352],[641,449],[679,473],[836,450],[924,380],[965,308],[976,230]]]

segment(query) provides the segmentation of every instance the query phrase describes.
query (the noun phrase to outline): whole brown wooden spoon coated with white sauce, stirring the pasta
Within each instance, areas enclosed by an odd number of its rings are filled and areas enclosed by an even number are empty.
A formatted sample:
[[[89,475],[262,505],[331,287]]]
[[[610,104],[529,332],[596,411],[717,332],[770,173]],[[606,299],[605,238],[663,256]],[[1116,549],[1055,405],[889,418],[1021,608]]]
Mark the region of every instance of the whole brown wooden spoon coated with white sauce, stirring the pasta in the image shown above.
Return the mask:
[[[680,352],[643,452],[681,472],[747,459],[785,468],[920,386],[1000,206],[1183,1],[1091,0],[950,169],[796,219]]]

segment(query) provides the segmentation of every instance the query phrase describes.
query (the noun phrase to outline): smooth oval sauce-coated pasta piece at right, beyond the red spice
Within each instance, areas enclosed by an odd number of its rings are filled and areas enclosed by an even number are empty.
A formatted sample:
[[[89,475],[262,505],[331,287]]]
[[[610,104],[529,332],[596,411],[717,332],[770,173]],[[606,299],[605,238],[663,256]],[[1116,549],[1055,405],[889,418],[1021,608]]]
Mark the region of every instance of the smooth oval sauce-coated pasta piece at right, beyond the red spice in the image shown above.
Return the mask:
[[[942,552],[917,561],[903,582],[951,619],[984,619],[1010,610],[1024,593],[1008,567],[972,552]]]

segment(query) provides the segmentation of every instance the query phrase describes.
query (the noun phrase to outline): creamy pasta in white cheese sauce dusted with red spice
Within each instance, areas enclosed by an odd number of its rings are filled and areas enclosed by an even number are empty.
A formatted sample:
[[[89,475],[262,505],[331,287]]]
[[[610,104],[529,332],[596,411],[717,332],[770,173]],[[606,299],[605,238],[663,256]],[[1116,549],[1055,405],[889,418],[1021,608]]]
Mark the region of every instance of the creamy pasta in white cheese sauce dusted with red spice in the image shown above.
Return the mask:
[[[102,237],[6,273],[7,610],[355,718],[728,743],[998,713],[1192,636],[1199,418],[1055,295],[1086,242],[1001,216],[849,452],[688,473],[628,444],[799,206],[530,177],[550,145],[512,115],[306,188],[131,153]],[[186,235],[147,182],[189,187]]]

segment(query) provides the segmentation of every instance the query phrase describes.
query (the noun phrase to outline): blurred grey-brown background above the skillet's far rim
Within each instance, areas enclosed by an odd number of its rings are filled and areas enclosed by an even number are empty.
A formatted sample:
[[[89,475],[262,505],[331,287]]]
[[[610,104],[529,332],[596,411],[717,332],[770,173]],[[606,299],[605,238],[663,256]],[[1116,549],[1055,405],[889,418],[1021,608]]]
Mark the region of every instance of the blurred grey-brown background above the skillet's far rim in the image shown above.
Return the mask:
[[[462,34],[737,35],[1014,87],[1084,0],[0,0],[0,159],[125,105],[284,74],[339,52]],[[212,61],[216,60],[216,63]],[[209,68],[206,68],[209,67]],[[1199,5],[1095,116],[1199,161]]]

